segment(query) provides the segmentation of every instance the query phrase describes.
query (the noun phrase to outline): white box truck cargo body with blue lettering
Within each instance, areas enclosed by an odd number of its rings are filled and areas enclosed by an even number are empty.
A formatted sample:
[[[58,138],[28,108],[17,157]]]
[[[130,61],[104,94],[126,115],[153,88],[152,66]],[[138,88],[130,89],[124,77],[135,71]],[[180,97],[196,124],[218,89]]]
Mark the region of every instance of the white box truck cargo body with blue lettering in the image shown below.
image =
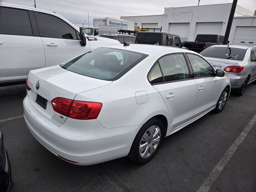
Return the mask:
[[[118,30],[130,30],[134,31],[135,21],[117,19],[117,18],[94,18],[93,26],[99,27],[99,25],[112,25],[117,26]]]

